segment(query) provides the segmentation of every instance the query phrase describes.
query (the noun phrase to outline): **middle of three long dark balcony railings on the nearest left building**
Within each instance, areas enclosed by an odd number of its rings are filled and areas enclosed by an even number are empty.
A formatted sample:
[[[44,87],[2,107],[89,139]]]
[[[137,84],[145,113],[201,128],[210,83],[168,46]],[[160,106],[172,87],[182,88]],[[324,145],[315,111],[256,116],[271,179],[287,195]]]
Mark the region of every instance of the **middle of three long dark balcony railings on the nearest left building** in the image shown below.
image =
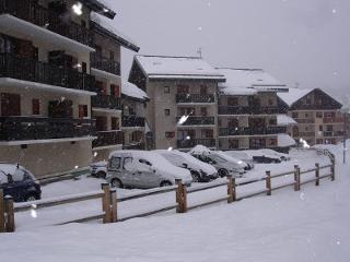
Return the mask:
[[[11,78],[71,90],[95,92],[95,78],[69,68],[0,53],[0,78]]]

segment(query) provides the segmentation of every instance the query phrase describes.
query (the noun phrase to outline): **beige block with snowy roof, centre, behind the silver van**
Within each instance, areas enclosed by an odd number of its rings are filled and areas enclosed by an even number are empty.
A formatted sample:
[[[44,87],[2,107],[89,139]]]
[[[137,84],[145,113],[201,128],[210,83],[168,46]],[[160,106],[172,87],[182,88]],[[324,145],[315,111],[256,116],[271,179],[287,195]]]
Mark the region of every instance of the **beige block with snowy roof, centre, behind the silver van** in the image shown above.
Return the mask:
[[[136,56],[129,82],[150,103],[145,116],[154,148],[217,148],[217,90],[224,76],[200,58]]]

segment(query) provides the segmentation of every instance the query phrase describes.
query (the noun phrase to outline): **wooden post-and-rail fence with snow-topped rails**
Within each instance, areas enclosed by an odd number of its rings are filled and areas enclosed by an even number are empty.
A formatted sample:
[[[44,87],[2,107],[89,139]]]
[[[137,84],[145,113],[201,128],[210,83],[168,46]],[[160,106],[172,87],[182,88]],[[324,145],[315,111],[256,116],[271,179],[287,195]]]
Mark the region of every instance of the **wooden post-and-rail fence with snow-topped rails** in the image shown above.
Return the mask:
[[[320,170],[330,168],[330,172],[320,176]],[[312,174],[315,172],[315,177],[312,179],[304,179],[302,181],[302,177],[305,174]],[[272,180],[276,178],[281,177],[288,177],[293,176],[294,179],[292,179],[292,182],[279,184],[277,187],[272,187]],[[335,180],[335,159],[331,159],[330,165],[326,166],[319,166],[319,164],[315,164],[315,168],[301,170],[299,166],[294,166],[294,170],[278,174],[278,175],[271,175],[271,171],[266,171],[266,176],[259,179],[248,180],[248,181],[242,181],[236,182],[236,179],[232,176],[228,176],[228,181],[220,181],[220,182],[213,182],[208,184],[200,184],[198,187],[187,188],[180,179],[176,180],[176,186],[171,186],[166,188],[160,188],[160,189],[152,189],[147,190],[143,192],[138,192],[132,195],[121,196],[117,198],[116,189],[112,189],[108,183],[102,184],[102,190],[93,193],[86,193],[86,194],[80,194],[75,196],[67,196],[67,198],[58,198],[55,200],[45,200],[45,201],[33,201],[27,203],[20,203],[14,205],[13,199],[11,196],[3,196],[3,192],[0,190],[0,233],[12,233],[15,230],[15,213],[18,212],[24,212],[30,211],[32,209],[39,210],[45,207],[51,207],[51,206],[59,206],[65,204],[71,204],[71,203],[79,203],[86,200],[94,200],[94,199],[101,199],[102,201],[102,211],[97,214],[85,216],[83,218],[74,219],[74,221],[67,221],[57,225],[65,225],[69,223],[83,223],[83,222],[90,222],[90,221],[97,221],[102,219],[103,223],[116,223],[116,222],[122,222],[136,217],[144,217],[150,216],[156,213],[171,211],[176,209],[177,213],[186,213],[189,210],[202,207],[206,205],[211,205],[214,203],[219,203],[222,201],[228,201],[228,203],[233,203],[235,201],[240,201],[243,199],[252,198],[255,195],[259,195],[262,193],[266,193],[267,195],[271,195],[273,190],[287,188],[287,187],[293,187],[294,191],[300,191],[301,186],[310,182],[315,182],[315,186],[319,186],[320,179],[324,178],[330,178],[331,181]],[[266,182],[266,187],[264,189],[260,189],[255,192],[247,193],[242,196],[237,196],[236,189],[237,187],[247,186],[256,182]],[[210,190],[214,188],[225,187],[226,188],[226,194],[223,198],[219,198],[215,200],[210,200],[203,203],[199,203],[192,206],[188,206],[187,195],[192,194],[199,191]],[[176,192],[176,203],[173,205],[167,205],[166,207],[158,209],[150,212],[144,212],[141,214],[128,216],[128,217],[118,217],[118,203],[136,200],[136,199],[142,199],[150,195],[155,194],[164,194],[168,192]]]

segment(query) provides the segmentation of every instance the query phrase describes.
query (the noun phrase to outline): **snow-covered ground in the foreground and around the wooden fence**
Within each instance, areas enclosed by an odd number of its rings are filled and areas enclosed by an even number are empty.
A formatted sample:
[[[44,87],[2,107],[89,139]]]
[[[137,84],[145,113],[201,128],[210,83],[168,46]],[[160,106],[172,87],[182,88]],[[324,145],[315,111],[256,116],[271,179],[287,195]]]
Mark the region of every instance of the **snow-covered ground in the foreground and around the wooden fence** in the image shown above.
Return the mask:
[[[323,179],[320,187],[302,186],[273,191],[233,204],[211,205],[186,214],[167,212],[147,218],[102,225],[71,224],[48,226],[81,213],[101,210],[101,202],[67,205],[30,212],[16,216],[18,233],[0,235],[1,261],[349,261],[350,260],[350,165],[337,155],[337,179]],[[292,152],[292,160],[256,165],[246,174],[249,180],[266,170],[279,174],[300,165],[302,169],[329,160],[314,152]],[[350,159],[350,155],[348,155]],[[281,178],[272,183],[291,181]],[[103,180],[84,178],[43,188],[44,198],[61,196],[100,189]],[[194,184],[192,187],[198,187]],[[265,183],[238,188],[240,194],[264,189]],[[119,195],[136,190],[119,190]],[[189,194],[189,206],[225,195],[225,188]],[[174,202],[174,192],[119,204],[119,215],[126,216]]]

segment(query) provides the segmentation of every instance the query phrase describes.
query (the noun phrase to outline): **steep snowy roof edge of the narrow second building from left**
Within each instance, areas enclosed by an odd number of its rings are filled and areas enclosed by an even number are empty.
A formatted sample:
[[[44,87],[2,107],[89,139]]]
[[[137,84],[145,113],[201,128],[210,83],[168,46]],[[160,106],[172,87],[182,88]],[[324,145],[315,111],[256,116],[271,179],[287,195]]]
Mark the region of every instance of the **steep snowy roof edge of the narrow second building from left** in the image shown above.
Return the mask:
[[[119,41],[124,47],[133,50],[133,51],[139,51],[139,47],[133,41],[131,38],[119,32],[113,24],[112,21],[106,19],[105,16],[101,15],[100,13],[96,12],[91,12],[90,19],[93,23],[96,25],[101,26],[101,29],[105,29],[106,33]]]

